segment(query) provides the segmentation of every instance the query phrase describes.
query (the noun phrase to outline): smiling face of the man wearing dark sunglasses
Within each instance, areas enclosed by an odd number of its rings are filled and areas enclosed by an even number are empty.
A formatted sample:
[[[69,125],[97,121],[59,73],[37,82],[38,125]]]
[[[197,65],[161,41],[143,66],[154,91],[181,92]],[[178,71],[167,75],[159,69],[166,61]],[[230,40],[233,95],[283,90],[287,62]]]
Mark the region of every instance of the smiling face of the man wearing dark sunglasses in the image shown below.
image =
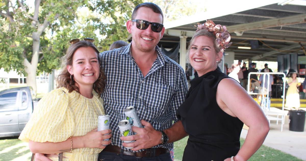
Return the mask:
[[[162,24],[162,15],[153,12],[152,9],[147,7],[140,7],[137,10],[135,20],[145,20],[149,22],[157,22]],[[131,25],[130,28],[128,25]],[[136,27],[136,22],[127,22],[127,28],[129,33],[132,34],[132,45],[136,47],[137,50],[142,52],[155,51],[155,46],[158,44],[159,40],[162,38],[165,28],[163,27],[160,33],[152,31],[151,24],[145,30],[138,29]],[[135,45],[135,46],[134,46]]]

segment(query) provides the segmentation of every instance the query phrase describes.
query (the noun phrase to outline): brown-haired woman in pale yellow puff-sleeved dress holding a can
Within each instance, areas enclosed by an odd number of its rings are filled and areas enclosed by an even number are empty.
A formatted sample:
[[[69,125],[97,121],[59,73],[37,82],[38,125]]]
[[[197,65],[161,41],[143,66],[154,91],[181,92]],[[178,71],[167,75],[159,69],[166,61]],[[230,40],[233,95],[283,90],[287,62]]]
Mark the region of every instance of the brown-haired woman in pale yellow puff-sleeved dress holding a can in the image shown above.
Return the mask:
[[[103,141],[111,137],[110,129],[97,131],[98,116],[104,114],[100,94],[106,78],[93,41],[70,40],[58,88],[39,101],[19,136],[29,142],[32,153],[43,153],[54,161],[62,152],[64,161],[93,161],[111,143]]]

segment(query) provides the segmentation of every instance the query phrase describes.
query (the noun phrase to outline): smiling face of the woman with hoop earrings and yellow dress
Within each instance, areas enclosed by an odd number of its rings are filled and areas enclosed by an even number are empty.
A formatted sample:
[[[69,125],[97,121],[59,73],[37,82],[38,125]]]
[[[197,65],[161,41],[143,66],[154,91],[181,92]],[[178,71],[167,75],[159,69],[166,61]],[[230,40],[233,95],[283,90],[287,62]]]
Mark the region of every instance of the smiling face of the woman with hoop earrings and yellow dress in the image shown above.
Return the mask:
[[[67,69],[78,86],[93,85],[99,78],[98,54],[93,48],[78,48],[73,54],[72,61],[72,65],[68,65]]]

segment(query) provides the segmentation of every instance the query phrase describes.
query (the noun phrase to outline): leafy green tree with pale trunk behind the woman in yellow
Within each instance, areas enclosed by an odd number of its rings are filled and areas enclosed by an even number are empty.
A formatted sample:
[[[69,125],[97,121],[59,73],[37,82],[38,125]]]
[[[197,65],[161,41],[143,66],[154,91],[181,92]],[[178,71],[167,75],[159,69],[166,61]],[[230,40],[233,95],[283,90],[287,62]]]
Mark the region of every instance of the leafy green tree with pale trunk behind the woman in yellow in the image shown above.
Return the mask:
[[[91,37],[100,51],[126,40],[125,22],[141,0],[23,0],[0,2],[0,68],[35,76],[60,65],[69,40]]]

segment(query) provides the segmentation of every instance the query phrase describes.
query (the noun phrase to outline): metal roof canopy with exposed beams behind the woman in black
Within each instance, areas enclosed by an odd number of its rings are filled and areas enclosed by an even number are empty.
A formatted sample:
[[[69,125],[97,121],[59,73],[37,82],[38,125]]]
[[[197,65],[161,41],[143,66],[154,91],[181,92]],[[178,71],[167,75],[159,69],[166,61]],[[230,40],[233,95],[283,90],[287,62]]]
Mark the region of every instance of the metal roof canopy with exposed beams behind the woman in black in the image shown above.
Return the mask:
[[[235,52],[235,59],[277,61],[277,55],[304,54],[301,45],[306,45],[306,6],[281,6],[275,3],[207,19],[227,27],[233,44],[226,51]],[[180,36],[190,40],[196,30],[196,23],[203,24],[206,20],[192,19],[185,22],[188,24],[168,25],[169,28],[165,24],[166,31],[159,46],[172,48],[180,41]],[[251,47],[250,40],[259,40],[263,44],[256,49],[238,49],[238,46]]]

